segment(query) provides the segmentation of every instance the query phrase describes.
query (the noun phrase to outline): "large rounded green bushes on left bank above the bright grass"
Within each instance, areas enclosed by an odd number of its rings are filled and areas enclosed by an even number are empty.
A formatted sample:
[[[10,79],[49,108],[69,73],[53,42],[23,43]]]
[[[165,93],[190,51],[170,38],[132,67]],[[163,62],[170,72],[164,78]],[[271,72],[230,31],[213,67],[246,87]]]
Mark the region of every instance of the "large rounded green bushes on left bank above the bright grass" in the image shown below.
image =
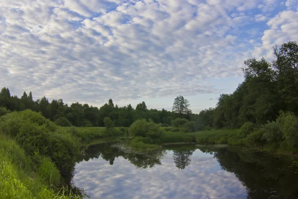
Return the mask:
[[[61,131],[41,113],[32,110],[11,112],[0,117],[0,134],[16,140],[26,155],[51,158],[61,175],[73,175],[76,158],[80,154],[78,139]]]

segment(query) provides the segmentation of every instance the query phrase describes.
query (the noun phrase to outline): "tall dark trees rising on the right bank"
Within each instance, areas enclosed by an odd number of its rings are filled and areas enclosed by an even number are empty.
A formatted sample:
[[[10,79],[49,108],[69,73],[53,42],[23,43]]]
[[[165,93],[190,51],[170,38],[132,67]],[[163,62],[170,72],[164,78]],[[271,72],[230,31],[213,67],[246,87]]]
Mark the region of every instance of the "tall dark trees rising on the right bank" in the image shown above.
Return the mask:
[[[244,81],[232,94],[222,94],[215,108],[201,111],[206,125],[216,129],[240,128],[275,121],[280,111],[298,115],[298,44],[290,41],[273,50],[275,60],[248,59]]]

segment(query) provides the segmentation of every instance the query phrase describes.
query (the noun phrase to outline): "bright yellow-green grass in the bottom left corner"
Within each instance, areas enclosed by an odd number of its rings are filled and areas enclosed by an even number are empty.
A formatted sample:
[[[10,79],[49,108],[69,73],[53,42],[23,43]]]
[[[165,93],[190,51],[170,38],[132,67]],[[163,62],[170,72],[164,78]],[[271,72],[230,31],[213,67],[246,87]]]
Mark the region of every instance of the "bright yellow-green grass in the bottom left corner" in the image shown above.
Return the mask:
[[[66,188],[53,186],[60,181],[60,173],[49,158],[39,166],[33,165],[14,140],[0,134],[1,199],[81,199],[66,194]]]

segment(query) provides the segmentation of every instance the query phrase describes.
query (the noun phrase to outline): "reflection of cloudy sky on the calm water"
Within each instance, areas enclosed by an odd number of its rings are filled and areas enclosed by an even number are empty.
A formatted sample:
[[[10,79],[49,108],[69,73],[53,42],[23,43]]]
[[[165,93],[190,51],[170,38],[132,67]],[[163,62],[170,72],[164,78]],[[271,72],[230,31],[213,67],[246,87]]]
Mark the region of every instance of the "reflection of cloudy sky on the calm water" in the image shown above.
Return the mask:
[[[195,150],[191,164],[179,170],[173,152],[161,165],[138,169],[123,157],[114,164],[101,157],[76,165],[77,187],[91,199],[245,199],[246,189],[234,174],[221,170],[213,155]]]

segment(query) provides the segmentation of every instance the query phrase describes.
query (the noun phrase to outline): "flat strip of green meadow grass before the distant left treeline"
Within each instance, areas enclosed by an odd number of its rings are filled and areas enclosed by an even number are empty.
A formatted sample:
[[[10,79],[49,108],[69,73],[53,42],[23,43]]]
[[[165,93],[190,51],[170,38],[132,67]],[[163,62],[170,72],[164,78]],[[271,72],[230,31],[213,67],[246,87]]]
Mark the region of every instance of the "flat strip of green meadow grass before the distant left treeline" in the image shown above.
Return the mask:
[[[107,131],[105,127],[60,127],[63,131],[72,132],[76,137],[82,141],[90,141],[95,138],[120,136],[124,132],[119,130],[119,127]]]

